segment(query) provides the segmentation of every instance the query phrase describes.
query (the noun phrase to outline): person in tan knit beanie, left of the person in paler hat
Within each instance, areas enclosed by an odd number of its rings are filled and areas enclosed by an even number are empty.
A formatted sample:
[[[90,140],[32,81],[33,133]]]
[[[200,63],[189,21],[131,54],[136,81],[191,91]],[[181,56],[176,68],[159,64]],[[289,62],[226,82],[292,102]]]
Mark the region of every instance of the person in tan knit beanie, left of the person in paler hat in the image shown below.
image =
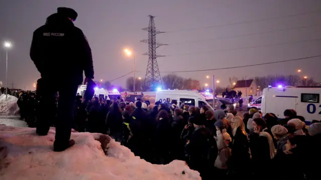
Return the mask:
[[[288,140],[287,129],[281,125],[274,125],[271,128],[271,132],[277,141],[276,154],[280,154],[286,149],[285,145]]]

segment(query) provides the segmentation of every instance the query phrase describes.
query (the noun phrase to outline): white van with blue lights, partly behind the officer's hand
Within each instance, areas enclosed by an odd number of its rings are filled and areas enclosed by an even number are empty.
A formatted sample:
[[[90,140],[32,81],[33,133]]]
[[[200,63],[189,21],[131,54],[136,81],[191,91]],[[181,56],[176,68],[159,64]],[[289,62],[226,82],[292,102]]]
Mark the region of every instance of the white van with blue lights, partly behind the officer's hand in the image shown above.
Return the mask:
[[[77,89],[77,95],[84,97],[86,89],[87,89],[87,85],[80,85]],[[96,95],[97,97],[103,97],[105,98],[105,100],[117,99],[118,96],[122,98],[121,94],[117,89],[104,89],[104,88],[95,87],[94,90],[95,90],[94,96]]]

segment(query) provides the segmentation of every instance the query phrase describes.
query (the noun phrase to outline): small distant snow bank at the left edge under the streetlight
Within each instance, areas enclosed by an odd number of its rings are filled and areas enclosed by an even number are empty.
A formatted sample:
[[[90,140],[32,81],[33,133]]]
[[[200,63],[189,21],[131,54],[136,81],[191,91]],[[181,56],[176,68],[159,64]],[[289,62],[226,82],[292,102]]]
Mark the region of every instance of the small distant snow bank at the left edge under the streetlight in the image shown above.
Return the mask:
[[[17,101],[17,97],[9,94],[6,100],[6,94],[2,94],[0,96],[0,115],[17,115],[19,113]]]

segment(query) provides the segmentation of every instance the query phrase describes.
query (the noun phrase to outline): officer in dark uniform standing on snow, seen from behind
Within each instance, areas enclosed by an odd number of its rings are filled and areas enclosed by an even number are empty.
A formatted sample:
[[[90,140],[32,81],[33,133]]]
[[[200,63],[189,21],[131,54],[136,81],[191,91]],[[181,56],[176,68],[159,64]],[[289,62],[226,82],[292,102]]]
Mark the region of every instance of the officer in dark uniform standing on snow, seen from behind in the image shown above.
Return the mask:
[[[70,8],[58,8],[46,24],[33,34],[30,57],[42,78],[40,114],[37,134],[47,135],[54,121],[56,136],[54,151],[63,151],[75,144],[70,139],[73,106],[78,85],[94,78],[91,49],[83,32],[74,26],[77,13]],[[59,92],[55,119],[55,94]]]

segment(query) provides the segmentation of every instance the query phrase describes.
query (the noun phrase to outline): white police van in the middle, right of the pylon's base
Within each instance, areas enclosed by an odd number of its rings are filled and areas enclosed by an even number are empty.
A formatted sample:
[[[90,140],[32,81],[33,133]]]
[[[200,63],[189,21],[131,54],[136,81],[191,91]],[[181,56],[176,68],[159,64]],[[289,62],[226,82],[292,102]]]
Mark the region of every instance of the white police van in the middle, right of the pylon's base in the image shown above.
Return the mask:
[[[217,98],[215,98],[217,99]],[[185,105],[193,105],[196,107],[202,107],[208,105],[213,109],[213,94],[210,92],[201,92],[198,90],[158,90],[156,92],[155,101],[161,103],[170,103],[172,100],[177,100],[178,105],[181,103]],[[223,103],[220,100],[216,100],[215,108],[220,109]]]

